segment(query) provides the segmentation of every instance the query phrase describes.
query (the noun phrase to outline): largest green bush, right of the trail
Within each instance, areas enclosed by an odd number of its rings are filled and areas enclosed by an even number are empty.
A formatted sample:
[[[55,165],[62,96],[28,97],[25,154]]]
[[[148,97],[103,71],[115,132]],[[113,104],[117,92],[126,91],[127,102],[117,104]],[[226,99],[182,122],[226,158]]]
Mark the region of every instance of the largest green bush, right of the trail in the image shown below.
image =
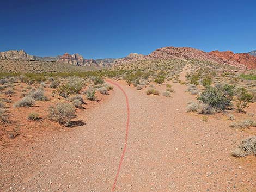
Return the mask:
[[[212,108],[224,110],[230,109],[232,106],[233,95],[234,86],[225,84],[206,88],[198,97],[198,100],[209,104]]]

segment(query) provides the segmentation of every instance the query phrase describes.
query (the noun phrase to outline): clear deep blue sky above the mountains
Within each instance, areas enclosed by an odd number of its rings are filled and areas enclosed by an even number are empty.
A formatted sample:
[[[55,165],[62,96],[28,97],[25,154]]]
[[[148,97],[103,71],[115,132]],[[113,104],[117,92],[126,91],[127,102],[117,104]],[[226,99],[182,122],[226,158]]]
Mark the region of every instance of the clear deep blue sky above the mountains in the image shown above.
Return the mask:
[[[165,46],[256,49],[256,1],[1,1],[0,51],[85,58]]]

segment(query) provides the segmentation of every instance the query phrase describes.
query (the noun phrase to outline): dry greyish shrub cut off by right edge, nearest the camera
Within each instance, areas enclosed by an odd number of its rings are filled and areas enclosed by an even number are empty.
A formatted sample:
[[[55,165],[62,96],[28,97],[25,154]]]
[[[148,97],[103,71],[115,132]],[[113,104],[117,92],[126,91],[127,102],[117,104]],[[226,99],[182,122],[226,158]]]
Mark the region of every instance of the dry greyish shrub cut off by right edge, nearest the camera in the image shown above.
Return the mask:
[[[231,154],[234,157],[244,157],[249,154],[256,155],[256,136],[242,140],[241,144]]]

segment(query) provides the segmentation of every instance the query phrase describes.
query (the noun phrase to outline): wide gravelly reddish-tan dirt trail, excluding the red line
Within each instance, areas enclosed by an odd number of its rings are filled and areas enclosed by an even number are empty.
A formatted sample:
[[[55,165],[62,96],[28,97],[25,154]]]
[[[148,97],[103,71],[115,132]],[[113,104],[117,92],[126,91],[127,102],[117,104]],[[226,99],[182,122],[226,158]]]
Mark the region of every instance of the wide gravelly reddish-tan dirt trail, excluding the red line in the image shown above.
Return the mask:
[[[117,83],[129,99],[130,129],[115,191],[256,188],[254,157],[230,156],[231,148],[248,134],[230,129],[224,117],[203,122],[202,116],[186,113],[187,102],[194,100],[186,85],[173,84],[175,93],[168,98]],[[157,89],[164,90],[164,85]],[[125,142],[127,110],[117,86],[110,97],[84,113],[87,125],[29,146],[31,152],[22,155],[26,158],[16,162],[19,166],[10,169],[14,162],[2,162],[3,191],[111,191]],[[13,155],[21,159],[20,153]]]

